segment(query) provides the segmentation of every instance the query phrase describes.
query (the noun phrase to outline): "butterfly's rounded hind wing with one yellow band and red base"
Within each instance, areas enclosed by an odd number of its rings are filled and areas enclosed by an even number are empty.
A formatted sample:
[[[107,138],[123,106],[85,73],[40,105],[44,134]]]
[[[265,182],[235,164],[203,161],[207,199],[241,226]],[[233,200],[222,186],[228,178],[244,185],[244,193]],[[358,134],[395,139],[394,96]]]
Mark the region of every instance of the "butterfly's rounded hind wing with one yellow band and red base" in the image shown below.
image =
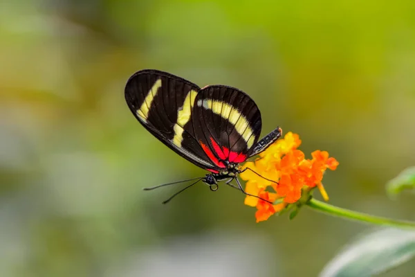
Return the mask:
[[[223,161],[241,163],[250,157],[261,134],[261,113],[243,91],[215,85],[196,96],[192,112],[196,139],[219,168]]]

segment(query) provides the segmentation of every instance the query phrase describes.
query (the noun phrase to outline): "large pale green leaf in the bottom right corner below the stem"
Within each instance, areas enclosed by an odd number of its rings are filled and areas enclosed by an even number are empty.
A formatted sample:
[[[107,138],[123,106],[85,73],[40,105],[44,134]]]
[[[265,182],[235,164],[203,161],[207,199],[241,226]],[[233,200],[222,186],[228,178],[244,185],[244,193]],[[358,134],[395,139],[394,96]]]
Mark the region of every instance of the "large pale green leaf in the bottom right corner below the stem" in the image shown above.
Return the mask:
[[[360,236],[335,256],[320,277],[374,276],[415,255],[415,231],[380,229]]]

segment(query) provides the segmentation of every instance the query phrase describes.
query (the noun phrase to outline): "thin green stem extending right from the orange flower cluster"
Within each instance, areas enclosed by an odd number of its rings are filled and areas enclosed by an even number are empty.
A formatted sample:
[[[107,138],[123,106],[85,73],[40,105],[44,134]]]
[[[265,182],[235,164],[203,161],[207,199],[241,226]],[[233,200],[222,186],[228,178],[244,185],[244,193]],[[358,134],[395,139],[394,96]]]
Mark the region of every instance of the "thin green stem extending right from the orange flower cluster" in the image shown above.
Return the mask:
[[[344,217],[349,220],[358,220],[360,222],[393,226],[398,228],[411,228],[415,229],[415,222],[405,221],[405,220],[392,220],[387,217],[377,217],[374,215],[368,215],[367,213],[359,213],[356,211],[348,210],[347,208],[339,208],[324,202],[318,201],[314,198],[311,198],[306,205],[310,208],[313,208],[322,213],[327,213],[329,215],[334,215],[336,217]]]

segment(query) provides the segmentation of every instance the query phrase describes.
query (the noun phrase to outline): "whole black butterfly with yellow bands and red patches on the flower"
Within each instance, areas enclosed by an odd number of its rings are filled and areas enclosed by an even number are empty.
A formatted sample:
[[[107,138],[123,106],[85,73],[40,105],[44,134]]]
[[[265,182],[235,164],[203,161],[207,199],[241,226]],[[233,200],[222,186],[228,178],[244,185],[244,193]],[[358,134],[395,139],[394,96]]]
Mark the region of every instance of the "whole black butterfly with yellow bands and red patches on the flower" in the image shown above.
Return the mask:
[[[176,75],[145,69],[129,78],[124,93],[129,109],[147,131],[187,161],[209,171],[205,177],[184,180],[197,179],[163,204],[199,181],[217,190],[218,181],[226,180],[225,184],[250,195],[237,178],[250,168],[241,169],[239,163],[266,150],[282,135],[282,129],[277,127],[259,140],[259,108],[250,96],[234,87],[200,88]],[[231,184],[233,180],[237,186]]]

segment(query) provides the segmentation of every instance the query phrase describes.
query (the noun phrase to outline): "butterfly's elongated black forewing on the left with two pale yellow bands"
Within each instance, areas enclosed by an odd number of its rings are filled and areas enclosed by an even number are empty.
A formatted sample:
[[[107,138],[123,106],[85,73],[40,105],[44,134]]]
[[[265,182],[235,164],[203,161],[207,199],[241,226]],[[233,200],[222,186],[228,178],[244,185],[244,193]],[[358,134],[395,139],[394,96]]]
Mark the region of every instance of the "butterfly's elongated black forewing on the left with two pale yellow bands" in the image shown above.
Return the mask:
[[[124,93],[131,112],[151,134],[196,166],[215,172],[191,120],[199,91],[175,75],[142,70],[129,78]]]

